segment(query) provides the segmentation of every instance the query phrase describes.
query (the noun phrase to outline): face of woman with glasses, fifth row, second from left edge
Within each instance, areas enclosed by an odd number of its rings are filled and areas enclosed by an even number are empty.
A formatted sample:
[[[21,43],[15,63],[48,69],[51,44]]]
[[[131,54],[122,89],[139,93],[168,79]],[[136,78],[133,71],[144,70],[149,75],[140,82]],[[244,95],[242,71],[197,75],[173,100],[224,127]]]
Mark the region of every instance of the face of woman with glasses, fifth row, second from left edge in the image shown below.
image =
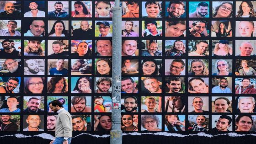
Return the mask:
[[[35,84],[35,85],[33,85]],[[33,94],[41,94],[43,91],[43,80],[39,77],[33,77],[28,81],[28,91]]]

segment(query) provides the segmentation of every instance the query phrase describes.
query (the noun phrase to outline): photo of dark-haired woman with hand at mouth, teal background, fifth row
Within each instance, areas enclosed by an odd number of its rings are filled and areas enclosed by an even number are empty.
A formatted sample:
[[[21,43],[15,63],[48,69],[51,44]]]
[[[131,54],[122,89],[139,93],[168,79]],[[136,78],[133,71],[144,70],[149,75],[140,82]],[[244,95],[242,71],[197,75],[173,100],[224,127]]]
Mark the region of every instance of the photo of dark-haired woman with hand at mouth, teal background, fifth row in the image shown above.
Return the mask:
[[[77,78],[78,77],[71,78],[71,89],[75,86],[71,93],[91,93],[91,77]],[[76,82],[75,79],[77,79]]]

